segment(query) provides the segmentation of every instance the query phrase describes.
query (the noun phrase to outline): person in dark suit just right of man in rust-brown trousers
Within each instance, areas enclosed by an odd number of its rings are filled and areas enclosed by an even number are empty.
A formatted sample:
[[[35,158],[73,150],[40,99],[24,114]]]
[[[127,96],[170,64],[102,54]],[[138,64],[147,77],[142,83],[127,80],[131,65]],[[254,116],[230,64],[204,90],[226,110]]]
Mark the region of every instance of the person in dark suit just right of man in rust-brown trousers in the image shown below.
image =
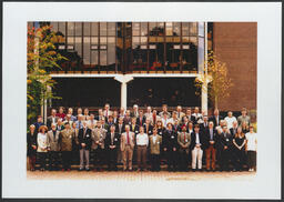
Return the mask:
[[[221,165],[221,171],[229,171],[229,161],[231,158],[231,149],[232,149],[232,142],[233,142],[233,137],[227,132],[226,125],[222,128],[222,133],[220,135],[220,151],[221,151],[221,156],[220,156],[220,165]]]

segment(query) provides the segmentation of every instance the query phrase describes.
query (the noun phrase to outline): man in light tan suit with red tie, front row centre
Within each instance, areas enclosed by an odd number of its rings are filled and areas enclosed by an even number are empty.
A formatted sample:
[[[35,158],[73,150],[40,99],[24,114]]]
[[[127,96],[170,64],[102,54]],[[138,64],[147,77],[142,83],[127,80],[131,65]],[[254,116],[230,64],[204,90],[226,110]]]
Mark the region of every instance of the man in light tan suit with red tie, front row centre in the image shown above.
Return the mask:
[[[130,125],[125,125],[125,132],[121,135],[121,144],[120,149],[122,152],[122,159],[123,159],[123,171],[126,171],[129,169],[132,171],[132,156],[133,156],[133,150],[135,145],[135,137],[134,132],[130,131]]]

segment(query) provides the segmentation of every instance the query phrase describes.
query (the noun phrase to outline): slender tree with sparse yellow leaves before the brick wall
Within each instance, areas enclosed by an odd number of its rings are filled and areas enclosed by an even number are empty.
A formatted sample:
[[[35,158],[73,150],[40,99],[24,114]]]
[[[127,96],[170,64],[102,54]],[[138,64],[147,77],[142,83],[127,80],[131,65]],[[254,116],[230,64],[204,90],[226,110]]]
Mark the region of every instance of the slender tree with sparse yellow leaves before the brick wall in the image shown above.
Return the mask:
[[[207,82],[209,84],[204,84]],[[195,78],[196,93],[207,92],[209,99],[217,109],[221,99],[230,97],[230,88],[233,87],[232,80],[227,77],[226,63],[220,61],[211,51],[207,55],[207,73]]]

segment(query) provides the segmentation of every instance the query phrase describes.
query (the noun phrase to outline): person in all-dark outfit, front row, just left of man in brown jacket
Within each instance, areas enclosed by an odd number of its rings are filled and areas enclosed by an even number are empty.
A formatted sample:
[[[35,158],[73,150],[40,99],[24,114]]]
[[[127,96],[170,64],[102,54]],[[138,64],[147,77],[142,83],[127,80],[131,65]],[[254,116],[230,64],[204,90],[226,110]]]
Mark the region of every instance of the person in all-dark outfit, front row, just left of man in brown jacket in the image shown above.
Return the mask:
[[[164,134],[164,151],[166,151],[168,170],[176,171],[178,169],[178,132],[173,130],[172,123],[168,123]]]

